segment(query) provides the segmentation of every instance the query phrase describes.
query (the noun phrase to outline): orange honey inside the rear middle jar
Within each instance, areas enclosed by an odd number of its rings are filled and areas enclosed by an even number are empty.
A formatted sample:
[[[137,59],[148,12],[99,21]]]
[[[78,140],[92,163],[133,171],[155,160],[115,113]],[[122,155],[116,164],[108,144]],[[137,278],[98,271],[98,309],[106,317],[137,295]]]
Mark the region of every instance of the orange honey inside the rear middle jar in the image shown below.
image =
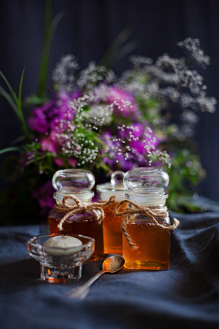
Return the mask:
[[[122,255],[122,217],[116,217],[113,214],[116,204],[110,204],[104,208],[104,252],[106,254]],[[120,210],[125,211],[125,205],[122,205]]]

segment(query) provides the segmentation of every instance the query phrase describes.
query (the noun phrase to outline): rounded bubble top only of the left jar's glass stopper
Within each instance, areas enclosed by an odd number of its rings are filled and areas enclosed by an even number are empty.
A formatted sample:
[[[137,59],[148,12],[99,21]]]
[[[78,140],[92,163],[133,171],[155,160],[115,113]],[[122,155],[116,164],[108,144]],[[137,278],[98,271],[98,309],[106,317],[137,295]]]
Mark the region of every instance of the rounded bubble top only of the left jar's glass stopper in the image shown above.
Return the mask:
[[[53,176],[53,187],[67,193],[91,190],[95,184],[95,178],[91,171],[84,169],[58,170]]]

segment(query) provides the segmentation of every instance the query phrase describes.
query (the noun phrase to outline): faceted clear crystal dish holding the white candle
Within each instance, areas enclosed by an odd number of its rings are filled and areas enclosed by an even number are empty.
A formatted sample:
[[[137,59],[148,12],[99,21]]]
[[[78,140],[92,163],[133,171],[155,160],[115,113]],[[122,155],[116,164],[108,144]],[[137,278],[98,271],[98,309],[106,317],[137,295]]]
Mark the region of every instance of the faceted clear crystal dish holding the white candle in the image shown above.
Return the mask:
[[[27,242],[29,255],[40,262],[41,279],[51,283],[79,280],[82,264],[94,252],[95,240],[80,234],[68,234],[81,240],[82,245],[67,248],[43,246],[46,240],[55,236],[63,236],[63,234],[38,235]]]

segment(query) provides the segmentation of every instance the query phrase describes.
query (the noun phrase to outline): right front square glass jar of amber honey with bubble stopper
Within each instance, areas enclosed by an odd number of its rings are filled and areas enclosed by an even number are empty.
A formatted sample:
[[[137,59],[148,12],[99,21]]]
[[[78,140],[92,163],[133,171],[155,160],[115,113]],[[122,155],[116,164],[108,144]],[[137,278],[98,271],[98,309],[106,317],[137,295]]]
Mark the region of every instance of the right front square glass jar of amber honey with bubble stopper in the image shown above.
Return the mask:
[[[142,207],[163,208],[164,190],[169,184],[166,171],[156,167],[134,168],[123,179],[128,192],[126,199]],[[132,205],[129,205],[133,208]],[[169,216],[156,218],[159,224],[169,225]],[[124,267],[129,269],[167,270],[170,267],[170,231],[155,226],[148,217],[133,215],[126,226],[132,240],[138,246],[131,249],[123,235]]]

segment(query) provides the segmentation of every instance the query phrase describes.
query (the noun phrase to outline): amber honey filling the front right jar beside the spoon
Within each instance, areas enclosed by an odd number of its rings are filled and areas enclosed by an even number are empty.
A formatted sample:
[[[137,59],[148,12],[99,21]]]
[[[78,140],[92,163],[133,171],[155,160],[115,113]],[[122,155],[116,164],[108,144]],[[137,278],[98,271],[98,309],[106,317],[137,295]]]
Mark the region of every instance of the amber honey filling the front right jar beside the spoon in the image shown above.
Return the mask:
[[[124,267],[129,269],[166,270],[170,266],[170,231],[164,231],[151,222],[128,223],[127,231],[138,245],[130,248],[123,236]]]

